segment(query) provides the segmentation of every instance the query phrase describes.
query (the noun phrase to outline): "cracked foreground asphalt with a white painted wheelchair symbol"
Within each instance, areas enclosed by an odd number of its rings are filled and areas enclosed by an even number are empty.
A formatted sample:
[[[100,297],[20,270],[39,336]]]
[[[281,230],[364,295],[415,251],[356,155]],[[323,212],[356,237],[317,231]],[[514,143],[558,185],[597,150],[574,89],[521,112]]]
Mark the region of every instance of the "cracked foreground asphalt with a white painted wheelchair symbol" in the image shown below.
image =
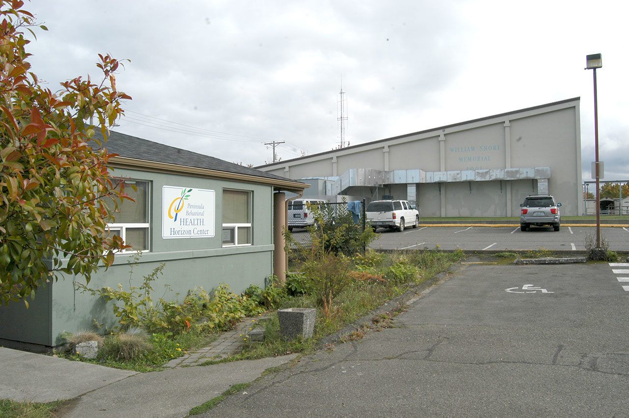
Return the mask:
[[[627,268],[472,261],[396,327],[306,356],[206,416],[626,415]]]

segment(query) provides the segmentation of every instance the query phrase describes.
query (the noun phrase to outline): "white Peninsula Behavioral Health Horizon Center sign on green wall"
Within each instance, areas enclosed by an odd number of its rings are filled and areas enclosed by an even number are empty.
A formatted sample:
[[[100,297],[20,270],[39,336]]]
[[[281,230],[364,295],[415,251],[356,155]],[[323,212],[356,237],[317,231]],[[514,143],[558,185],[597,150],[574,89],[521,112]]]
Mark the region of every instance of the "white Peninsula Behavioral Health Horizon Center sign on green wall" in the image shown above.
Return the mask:
[[[214,201],[214,190],[162,187],[162,238],[213,237]]]

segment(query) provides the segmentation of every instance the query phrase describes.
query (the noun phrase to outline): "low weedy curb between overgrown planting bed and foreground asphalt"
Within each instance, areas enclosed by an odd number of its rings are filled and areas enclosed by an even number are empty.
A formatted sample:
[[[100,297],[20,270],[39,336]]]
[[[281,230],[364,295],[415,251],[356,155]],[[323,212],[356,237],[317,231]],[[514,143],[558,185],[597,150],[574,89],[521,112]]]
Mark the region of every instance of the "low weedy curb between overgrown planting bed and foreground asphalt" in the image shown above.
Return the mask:
[[[404,294],[394,297],[393,299],[389,300],[389,302],[386,302],[384,305],[377,307],[372,311],[369,311],[365,316],[360,317],[360,319],[357,319],[351,324],[342,327],[336,333],[330,334],[327,337],[321,339],[316,348],[321,349],[324,348],[326,344],[338,343],[338,341],[340,341],[343,336],[352,333],[363,325],[370,325],[372,323],[371,320],[374,316],[388,314],[389,312],[396,311],[397,309],[406,306],[406,304],[408,304],[410,300],[419,299],[422,294],[430,292],[433,287],[448,280],[448,278],[450,278],[448,277],[448,275],[456,273],[461,267],[462,264],[460,262],[451,265],[447,272],[437,273],[425,282],[407,290],[406,292],[404,292]],[[413,300],[413,302],[415,300]]]

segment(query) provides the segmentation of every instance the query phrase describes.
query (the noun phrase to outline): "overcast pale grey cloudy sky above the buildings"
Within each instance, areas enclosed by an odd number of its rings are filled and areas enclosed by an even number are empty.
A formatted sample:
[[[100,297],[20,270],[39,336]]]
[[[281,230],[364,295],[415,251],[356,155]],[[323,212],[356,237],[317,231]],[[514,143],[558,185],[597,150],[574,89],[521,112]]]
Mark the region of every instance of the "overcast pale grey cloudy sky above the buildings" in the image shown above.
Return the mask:
[[[34,1],[29,52],[51,89],[128,58],[120,132],[260,165],[581,96],[584,180],[598,70],[605,179],[629,179],[627,9],[620,1]],[[195,133],[196,135],[191,135]],[[223,138],[223,139],[220,139]],[[228,138],[228,139],[225,139]],[[540,150],[543,152],[543,150]]]

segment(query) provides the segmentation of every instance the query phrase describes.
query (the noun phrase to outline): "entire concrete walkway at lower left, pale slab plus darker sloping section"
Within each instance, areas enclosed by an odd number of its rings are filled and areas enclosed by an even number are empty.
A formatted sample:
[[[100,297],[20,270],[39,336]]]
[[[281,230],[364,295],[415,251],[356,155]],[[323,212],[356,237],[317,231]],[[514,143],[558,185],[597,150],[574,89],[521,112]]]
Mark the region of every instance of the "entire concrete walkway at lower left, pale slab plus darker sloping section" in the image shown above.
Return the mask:
[[[232,385],[252,382],[296,356],[138,373],[0,348],[0,399],[72,399],[55,412],[58,417],[182,417]]]

